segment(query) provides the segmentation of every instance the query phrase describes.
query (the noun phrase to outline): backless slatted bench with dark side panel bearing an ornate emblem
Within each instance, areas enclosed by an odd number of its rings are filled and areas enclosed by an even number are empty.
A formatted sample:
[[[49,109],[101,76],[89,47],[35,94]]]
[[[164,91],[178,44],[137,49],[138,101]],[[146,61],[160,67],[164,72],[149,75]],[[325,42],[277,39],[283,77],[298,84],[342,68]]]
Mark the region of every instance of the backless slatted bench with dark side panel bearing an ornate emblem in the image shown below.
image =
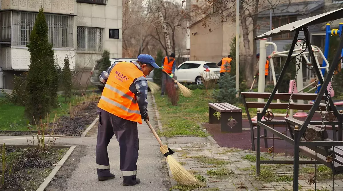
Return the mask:
[[[220,113],[220,119],[213,114]],[[209,103],[210,124],[221,124],[221,132],[242,132],[242,109],[229,103]]]

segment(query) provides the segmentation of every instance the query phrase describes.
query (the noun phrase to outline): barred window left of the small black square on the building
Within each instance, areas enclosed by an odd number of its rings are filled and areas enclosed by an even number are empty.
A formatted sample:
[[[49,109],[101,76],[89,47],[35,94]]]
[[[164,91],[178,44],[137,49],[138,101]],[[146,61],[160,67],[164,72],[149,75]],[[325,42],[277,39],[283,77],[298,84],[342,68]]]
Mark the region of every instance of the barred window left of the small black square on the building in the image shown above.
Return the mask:
[[[78,26],[78,51],[101,52],[103,50],[103,28]]]

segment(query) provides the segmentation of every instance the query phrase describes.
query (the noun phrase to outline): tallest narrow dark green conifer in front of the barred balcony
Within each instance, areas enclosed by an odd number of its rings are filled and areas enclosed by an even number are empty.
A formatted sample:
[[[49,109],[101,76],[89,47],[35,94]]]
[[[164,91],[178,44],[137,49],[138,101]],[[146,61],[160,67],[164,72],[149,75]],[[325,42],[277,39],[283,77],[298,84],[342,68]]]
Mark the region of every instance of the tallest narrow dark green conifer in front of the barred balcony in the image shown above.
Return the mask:
[[[48,39],[48,25],[43,9],[39,10],[27,44],[30,65],[27,73],[25,115],[31,122],[45,116],[57,105],[58,67],[54,60],[52,44]]]

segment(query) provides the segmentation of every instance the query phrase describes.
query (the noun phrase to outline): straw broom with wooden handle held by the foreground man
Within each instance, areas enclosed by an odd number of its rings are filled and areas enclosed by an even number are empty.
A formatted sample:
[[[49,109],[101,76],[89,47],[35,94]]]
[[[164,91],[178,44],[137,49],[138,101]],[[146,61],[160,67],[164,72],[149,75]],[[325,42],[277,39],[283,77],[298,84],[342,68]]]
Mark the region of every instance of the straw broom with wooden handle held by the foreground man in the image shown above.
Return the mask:
[[[205,184],[200,182],[197,178],[195,178],[192,174],[190,174],[180,163],[178,163],[171,154],[174,153],[167,145],[163,145],[161,139],[159,139],[157,133],[155,132],[154,128],[151,126],[150,122],[145,119],[146,124],[149,126],[151,132],[154,134],[155,138],[157,139],[159,145],[161,146],[159,150],[163,153],[166,157],[166,161],[169,164],[171,174],[173,174],[174,179],[182,185],[186,186],[196,186],[196,187],[204,187]]]

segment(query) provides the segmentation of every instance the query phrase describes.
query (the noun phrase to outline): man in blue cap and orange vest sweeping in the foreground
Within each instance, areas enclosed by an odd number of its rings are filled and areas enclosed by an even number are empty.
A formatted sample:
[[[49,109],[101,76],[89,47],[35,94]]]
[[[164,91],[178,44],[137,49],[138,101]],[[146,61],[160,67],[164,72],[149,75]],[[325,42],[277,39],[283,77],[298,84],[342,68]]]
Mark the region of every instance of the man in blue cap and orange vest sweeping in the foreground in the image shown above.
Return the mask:
[[[116,62],[99,76],[105,85],[98,103],[99,126],[96,142],[98,180],[115,178],[110,173],[107,145],[113,135],[120,147],[120,170],[124,186],[140,183],[136,178],[138,159],[137,122],[149,120],[147,112],[147,80],[154,68],[159,68],[151,55],[141,54],[133,62]]]

